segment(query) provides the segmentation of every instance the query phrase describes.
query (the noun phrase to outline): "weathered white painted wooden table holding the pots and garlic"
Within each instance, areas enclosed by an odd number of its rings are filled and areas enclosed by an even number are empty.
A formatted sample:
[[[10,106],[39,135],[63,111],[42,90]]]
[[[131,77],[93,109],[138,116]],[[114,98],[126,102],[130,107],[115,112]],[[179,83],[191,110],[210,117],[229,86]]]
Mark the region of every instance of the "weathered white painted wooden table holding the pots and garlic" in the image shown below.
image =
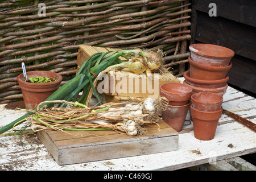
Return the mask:
[[[20,110],[7,110],[4,106],[0,105],[0,127],[7,125],[25,113]],[[228,87],[222,107],[256,123],[256,99],[254,97],[247,96],[245,93]],[[187,118],[189,118],[189,114]],[[176,170],[256,152],[256,133],[225,114],[222,114],[213,140],[203,141],[196,139],[193,135],[193,123],[191,123],[184,126],[179,133],[179,149],[160,154],[59,166],[46,147],[40,143],[40,140],[36,136],[32,137],[32,139],[39,143],[40,148],[38,150],[24,150],[20,146],[19,140],[15,140],[11,136],[1,137],[0,171]],[[36,148],[37,146],[26,145],[24,147]]]

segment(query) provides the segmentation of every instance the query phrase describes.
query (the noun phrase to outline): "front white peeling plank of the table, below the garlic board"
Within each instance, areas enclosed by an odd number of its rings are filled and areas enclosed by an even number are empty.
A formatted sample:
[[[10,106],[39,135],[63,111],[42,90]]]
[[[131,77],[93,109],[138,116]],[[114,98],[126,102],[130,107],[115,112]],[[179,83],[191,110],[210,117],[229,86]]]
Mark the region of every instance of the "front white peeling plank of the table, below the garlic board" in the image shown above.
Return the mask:
[[[8,137],[3,143],[9,145],[11,141],[11,137]],[[59,166],[49,156],[44,146],[40,146],[40,150],[31,155],[18,144],[13,144],[7,154],[0,155],[0,168],[5,168],[5,165],[11,162],[16,164],[15,169],[17,170],[25,169],[28,166],[31,170],[45,170],[49,167],[53,170],[108,170],[110,168],[113,170],[174,170],[209,163],[210,158],[222,160],[256,152],[255,142],[255,135],[250,132],[248,134],[246,127],[241,127],[240,124],[233,122],[218,126],[216,137],[211,142],[195,139],[193,131],[191,131],[180,134],[179,150],[177,151],[84,163],[85,165],[71,164],[68,166]],[[233,147],[230,143],[232,143]],[[12,154],[12,151],[16,151],[16,153]],[[23,165],[24,159],[29,159],[24,163],[25,165]]]

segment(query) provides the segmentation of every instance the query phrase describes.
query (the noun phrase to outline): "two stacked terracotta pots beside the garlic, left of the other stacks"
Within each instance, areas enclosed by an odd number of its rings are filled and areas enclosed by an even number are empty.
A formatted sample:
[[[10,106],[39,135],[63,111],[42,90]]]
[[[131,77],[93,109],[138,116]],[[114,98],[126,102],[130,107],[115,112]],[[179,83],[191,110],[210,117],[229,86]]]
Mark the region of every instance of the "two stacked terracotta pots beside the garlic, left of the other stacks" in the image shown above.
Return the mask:
[[[183,129],[191,95],[192,88],[185,84],[170,82],[160,86],[160,96],[168,102],[168,108],[162,110],[163,121],[177,132]]]

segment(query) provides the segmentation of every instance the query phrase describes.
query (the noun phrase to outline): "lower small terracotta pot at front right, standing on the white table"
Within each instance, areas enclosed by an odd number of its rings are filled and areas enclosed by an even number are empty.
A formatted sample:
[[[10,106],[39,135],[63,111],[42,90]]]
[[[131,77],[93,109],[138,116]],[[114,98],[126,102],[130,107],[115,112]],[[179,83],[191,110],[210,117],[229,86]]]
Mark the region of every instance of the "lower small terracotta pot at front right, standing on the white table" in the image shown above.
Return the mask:
[[[215,136],[218,120],[222,115],[222,107],[220,110],[206,112],[196,110],[190,107],[193,117],[194,136],[199,140],[212,140]]]

